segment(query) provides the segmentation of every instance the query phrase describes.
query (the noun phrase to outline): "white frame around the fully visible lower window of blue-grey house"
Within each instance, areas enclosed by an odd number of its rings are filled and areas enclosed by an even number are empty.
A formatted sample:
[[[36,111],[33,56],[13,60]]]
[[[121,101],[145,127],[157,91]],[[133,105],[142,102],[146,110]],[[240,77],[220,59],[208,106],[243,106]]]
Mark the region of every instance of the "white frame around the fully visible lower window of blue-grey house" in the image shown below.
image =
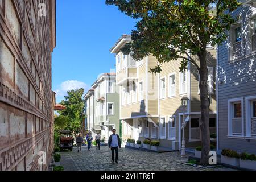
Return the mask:
[[[233,117],[234,117],[234,104],[241,102],[241,127],[242,133],[241,134],[233,134]],[[244,136],[244,113],[243,113],[243,97],[241,98],[233,98],[228,100],[228,137],[243,137]]]

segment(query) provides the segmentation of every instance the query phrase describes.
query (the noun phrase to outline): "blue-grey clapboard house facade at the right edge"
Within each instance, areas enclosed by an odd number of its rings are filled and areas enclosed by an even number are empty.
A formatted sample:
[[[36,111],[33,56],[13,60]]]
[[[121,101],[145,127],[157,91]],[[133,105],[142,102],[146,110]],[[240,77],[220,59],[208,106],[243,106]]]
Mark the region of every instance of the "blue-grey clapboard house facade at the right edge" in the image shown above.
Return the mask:
[[[256,154],[256,5],[243,5],[226,42],[218,46],[218,151]]]

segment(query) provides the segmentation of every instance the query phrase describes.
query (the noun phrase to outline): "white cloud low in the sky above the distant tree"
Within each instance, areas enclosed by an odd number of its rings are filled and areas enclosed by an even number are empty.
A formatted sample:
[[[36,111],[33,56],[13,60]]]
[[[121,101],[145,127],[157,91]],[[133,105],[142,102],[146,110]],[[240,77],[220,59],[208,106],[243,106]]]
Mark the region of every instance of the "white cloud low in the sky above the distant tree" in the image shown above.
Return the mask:
[[[56,102],[60,102],[61,100],[63,100],[64,96],[67,96],[67,92],[69,90],[75,90],[80,88],[84,88],[86,90],[87,85],[84,82],[77,80],[68,80],[62,82],[55,90]]]

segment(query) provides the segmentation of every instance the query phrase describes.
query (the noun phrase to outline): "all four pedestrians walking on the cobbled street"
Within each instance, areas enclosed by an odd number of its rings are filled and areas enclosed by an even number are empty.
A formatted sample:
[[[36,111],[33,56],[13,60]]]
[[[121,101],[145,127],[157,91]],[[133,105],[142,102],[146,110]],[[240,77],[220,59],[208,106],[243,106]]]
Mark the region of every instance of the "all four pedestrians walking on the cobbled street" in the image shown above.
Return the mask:
[[[119,135],[115,133],[116,131],[117,130],[115,129],[112,130],[113,134],[109,136],[109,140],[108,140],[108,146],[112,153],[112,163],[114,162],[118,163],[118,148],[121,148],[121,139]],[[101,135],[99,133],[97,133],[95,140],[96,140],[96,149],[100,150]],[[88,133],[88,135],[86,135],[85,141],[87,142],[88,151],[90,151],[90,148],[92,148],[92,142],[93,142],[93,137],[91,133]],[[81,146],[83,142],[84,142],[84,139],[81,137],[81,134],[79,134],[76,137],[77,152],[81,152]]]

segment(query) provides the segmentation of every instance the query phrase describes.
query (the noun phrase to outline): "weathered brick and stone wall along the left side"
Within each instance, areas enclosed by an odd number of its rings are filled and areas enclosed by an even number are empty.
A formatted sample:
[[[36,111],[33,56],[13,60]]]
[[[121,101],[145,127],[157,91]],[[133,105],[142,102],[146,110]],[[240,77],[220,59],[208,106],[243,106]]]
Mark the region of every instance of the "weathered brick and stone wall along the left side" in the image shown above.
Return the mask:
[[[46,16],[38,16],[38,5]],[[0,171],[46,170],[53,148],[55,0],[0,0]],[[46,165],[39,165],[40,151]]]

